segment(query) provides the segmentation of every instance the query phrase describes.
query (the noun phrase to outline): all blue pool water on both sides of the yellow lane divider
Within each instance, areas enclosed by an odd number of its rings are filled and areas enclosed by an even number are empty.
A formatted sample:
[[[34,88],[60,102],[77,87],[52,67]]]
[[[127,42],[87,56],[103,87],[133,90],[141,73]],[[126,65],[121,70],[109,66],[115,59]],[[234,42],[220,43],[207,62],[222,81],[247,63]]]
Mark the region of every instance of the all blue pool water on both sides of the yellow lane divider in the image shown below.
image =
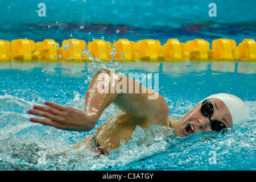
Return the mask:
[[[54,39],[59,44],[70,38],[112,43],[156,39],[162,44],[170,38],[256,40],[255,1],[216,1],[216,17],[208,15],[210,0],[46,0],[46,17],[38,16],[40,2],[1,1],[0,39]],[[181,118],[203,98],[225,92],[245,100],[250,119],[225,133],[184,138],[166,127],[137,127],[133,139],[121,141],[108,158],[95,158],[92,151],[74,146],[112,117],[116,106],[110,105],[86,133],[31,123],[27,110],[44,101],[84,109],[89,81],[102,65],[0,63],[0,170],[255,170],[255,66],[237,61],[114,63],[115,71],[125,74],[159,73],[159,93],[170,117]]]

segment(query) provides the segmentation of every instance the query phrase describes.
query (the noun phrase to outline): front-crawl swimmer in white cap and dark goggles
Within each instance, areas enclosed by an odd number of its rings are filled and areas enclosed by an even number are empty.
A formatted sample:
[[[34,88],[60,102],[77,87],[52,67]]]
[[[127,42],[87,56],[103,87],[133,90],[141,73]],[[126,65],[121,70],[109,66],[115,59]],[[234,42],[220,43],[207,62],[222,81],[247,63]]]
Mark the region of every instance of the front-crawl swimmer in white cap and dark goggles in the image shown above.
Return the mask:
[[[85,94],[84,110],[45,102],[47,106],[34,106],[33,110],[28,110],[29,114],[44,118],[30,118],[30,121],[62,130],[90,131],[96,125],[102,111],[113,103],[123,110],[123,113],[102,123],[95,135],[89,135],[76,146],[86,146],[93,148],[99,155],[108,155],[110,151],[119,148],[121,139],[126,143],[131,139],[137,125],[143,129],[148,129],[151,124],[172,127],[179,137],[185,137],[192,133],[221,131],[232,125],[240,125],[249,118],[245,103],[240,98],[226,93],[205,98],[180,119],[169,118],[169,107],[164,97],[159,94],[155,100],[148,100],[149,95],[158,93],[139,85],[132,78],[126,77],[133,82],[132,86],[127,84],[127,89],[134,89],[137,85],[140,91],[146,92],[99,93],[97,88],[100,81],[97,77],[100,74],[105,78],[112,76],[106,69],[100,69],[93,76]],[[114,76],[119,74],[114,72]],[[119,81],[115,80],[114,84],[118,84]],[[110,89],[110,84],[113,83],[106,79],[105,84],[108,84]]]

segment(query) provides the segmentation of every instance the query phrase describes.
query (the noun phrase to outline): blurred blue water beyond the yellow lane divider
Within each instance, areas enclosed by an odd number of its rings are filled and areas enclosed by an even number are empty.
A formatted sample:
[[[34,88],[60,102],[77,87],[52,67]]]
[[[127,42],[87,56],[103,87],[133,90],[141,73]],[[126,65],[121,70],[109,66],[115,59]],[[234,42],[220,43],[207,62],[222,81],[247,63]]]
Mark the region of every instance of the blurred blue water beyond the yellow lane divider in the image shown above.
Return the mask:
[[[216,1],[217,16],[210,17],[211,0],[46,0],[46,16],[38,16],[41,1],[1,1],[0,39],[31,39],[35,42],[54,39],[61,45],[65,39],[86,42],[93,39],[110,41],[167,39],[180,42],[202,38],[256,40],[256,2]],[[84,26],[84,29],[80,29]],[[119,34],[116,31],[119,30]]]

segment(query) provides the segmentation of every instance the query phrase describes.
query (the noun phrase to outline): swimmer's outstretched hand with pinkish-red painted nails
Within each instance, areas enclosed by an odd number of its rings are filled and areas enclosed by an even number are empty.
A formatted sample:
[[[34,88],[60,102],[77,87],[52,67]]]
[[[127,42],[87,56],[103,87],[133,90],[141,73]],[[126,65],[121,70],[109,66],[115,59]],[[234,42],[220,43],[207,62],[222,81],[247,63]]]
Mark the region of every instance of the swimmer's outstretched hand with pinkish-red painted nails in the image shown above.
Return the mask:
[[[28,113],[39,115],[46,119],[30,118],[31,122],[72,131],[89,131],[97,123],[97,119],[89,117],[83,110],[54,102],[45,102],[44,104],[47,106],[34,106],[34,110],[28,110]]]

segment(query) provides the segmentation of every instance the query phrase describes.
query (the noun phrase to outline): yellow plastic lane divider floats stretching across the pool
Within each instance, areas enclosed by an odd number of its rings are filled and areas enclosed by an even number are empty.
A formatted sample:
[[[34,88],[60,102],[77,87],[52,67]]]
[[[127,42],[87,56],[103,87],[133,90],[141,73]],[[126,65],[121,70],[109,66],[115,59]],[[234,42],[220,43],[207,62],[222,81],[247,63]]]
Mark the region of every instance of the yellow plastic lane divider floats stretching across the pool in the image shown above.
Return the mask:
[[[113,44],[104,40],[93,40],[86,44],[84,40],[68,39],[61,44],[53,39],[35,43],[33,40],[0,40],[0,61],[93,61],[104,62],[114,59],[130,61],[250,61],[256,62],[256,43],[254,39],[244,39],[240,44],[230,39],[216,39],[210,43],[204,39],[188,40],[180,43],[177,39],[168,39],[163,45],[159,40],[146,39],[132,42],[119,39]]]

